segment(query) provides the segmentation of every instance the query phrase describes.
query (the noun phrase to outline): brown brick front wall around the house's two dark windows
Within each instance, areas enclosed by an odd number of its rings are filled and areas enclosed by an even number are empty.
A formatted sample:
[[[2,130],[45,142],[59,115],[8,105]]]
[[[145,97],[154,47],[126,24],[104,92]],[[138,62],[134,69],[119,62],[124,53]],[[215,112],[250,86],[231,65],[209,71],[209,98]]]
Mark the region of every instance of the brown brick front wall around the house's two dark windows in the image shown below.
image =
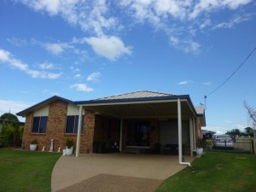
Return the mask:
[[[45,147],[46,151],[49,151],[50,148],[50,140],[54,139],[54,151],[58,151],[60,147],[61,150],[66,148],[65,140],[67,137],[72,138],[74,141],[74,145],[76,146],[77,134],[66,134],[65,126],[67,119],[67,102],[55,101],[49,104],[49,115],[46,133],[32,133],[32,119],[33,113],[26,114],[26,123],[24,126],[23,138],[22,138],[22,148],[25,150],[29,150],[29,145],[33,139],[38,140],[38,148],[37,150],[42,150]],[[90,123],[94,122],[94,120],[90,119]],[[84,126],[86,118],[84,117]],[[88,126],[88,125],[87,125]],[[80,139],[80,153],[85,153],[85,134],[88,131],[85,131],[81,134]],[[90,133],[89,133],[90,135]],[[88,140],[88,139],[87,139]]]

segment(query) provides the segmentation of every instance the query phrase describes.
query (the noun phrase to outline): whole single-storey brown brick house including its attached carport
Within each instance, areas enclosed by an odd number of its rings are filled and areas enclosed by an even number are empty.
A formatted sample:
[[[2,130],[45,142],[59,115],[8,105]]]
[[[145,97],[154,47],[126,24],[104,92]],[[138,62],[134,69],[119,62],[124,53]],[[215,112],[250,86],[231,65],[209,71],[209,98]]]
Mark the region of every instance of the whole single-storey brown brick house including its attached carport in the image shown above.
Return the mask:
[[[73,102],[52,96],[17,113],[26,117],[22,147],[33,139],[38,150],[65,148],[65,138],[76,143],[76,153],[193,154],[204,108],[194,107],[189,95],[137,91],[90,101]],[[168,151],[169,149],[169,151]]]

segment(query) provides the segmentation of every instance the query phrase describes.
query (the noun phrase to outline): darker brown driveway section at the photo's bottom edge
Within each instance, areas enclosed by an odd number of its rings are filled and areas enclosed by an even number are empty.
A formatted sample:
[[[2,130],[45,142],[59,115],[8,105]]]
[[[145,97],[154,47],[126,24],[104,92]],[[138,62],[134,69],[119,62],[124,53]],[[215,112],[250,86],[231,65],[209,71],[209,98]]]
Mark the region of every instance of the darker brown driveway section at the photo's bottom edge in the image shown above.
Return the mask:
[[[99,174],[57,192],[154,192],[161,179]]]

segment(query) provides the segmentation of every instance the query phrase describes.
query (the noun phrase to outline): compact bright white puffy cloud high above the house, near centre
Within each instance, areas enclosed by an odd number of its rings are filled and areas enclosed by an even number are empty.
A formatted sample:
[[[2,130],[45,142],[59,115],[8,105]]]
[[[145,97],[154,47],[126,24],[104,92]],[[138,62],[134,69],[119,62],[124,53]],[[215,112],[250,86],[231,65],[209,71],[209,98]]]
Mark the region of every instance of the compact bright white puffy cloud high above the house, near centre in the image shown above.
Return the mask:
[[[125,44],[118,37],[102,38],[84,38],[87,44],[90,44],[97,55],[102,55],[110,61],[114,61],[121,55],[131,55],[131,48],[125,47]]]

